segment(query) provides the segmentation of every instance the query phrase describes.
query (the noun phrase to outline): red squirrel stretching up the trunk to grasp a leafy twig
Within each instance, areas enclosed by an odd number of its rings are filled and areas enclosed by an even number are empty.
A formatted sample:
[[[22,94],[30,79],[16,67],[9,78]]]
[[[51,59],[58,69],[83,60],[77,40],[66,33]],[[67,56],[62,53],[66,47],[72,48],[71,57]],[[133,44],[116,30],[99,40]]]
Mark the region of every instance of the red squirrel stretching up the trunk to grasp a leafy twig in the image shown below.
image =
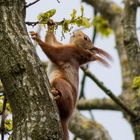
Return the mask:
[[[110,59],[111,56],[94,47],[90,38],[82,31],[75,32],[70,38],[70,43],[66,45],[58,42],[53,32],[54,24],[48,24],[45,42],[36,32],[30,32],[30,34],[50,59],[48,75],[52,94],[58,106],[64,140],[68,140],[68,121],[78,95],[79,67],[90,61],[99,61],[107,66],[108,63],[103,57]]]

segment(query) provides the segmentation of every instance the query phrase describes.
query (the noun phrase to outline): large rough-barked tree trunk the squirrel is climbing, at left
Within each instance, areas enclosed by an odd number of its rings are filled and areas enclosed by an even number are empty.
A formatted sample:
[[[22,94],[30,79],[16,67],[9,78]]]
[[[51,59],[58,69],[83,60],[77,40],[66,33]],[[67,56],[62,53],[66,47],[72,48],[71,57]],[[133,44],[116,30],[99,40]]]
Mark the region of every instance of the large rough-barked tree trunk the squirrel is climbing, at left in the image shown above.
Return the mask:
[[[25,27],[25,1],[0,0],[0,78],[13,113],[13,140],[62,140],[49,82]]]

